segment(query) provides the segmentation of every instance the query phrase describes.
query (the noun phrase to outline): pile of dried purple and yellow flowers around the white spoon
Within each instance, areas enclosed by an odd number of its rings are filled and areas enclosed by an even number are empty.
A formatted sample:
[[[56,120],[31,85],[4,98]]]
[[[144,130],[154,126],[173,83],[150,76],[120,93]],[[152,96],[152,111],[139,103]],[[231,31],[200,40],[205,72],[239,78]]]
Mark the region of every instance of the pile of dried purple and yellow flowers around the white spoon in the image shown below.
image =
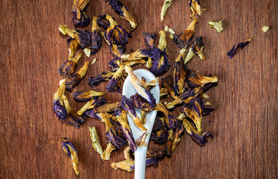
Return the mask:
[[[106,0],[107,1],[107,0]],[[84,27],[90,24],[90,18],[85,14],[90,0],[74,0],[72,12],[75,27]],[[204,93],[214,86],[218,81],[215,76],[202,76],[197,71],[190,70],[186,64],[197,54],[201,60],[205,60],[202,37],[194,37],[195,25],[198,22],[196,15],[201,15],[202,9],[198,0],[190,0],[190,10],[192,10],[193,22],[180,35],[175,35],[169,28],[170,37],[181,50],[174,61],[174,74],[166,78],[156,78],[147,82],[145,78],[138,79],[133,74],[131,66],[145,65],[155,76],[162,76],[170,68],[170,61],[167,53],[167,31],[159,31],[158,45],[155,46],[156,33],[143,33],[145,47],[137,49],[133,53],[124,54],[126,44],[131,37],[131,32],[137,27],[135,19],[129,10],[117,0],[109,0],[112,8],[131,25],[131,30],[115,21],[111,15],[99,15],[92,17],[91,31],[81,31],[60,25],[59,30],[64,35],[68,35],[67,44],[70,55],[59,68],[58,72],[65,79],[60,80],[60,85],[54,94],[54,112],[61,121],[79,128],[85,123],[85,117],[94,118],[104,123],[106,126],[107,144],[103,150],[99,142],[99,137],[95,127],[89,128],[92,139],[92,147],[101,157],[101,160],[110,160],[111,153],[119,148],[124,149],[124,161],[113,162],[113,169],[134,170],[133,152],[141,145],[145,145],[147,135],[144,127],[147,112],[157,110],[158,115],[154,123],[151,134],[151,141],[157,144],[157,148],[149,148],[147,151],[146,165],[158,164],[163,157],[170,157],[172,152],[181,141],[183,133],[188,133],[199,145],[204,145],[208,137],[213,137],[211,133],[202,130],[202,118],[210,114],[214,108],[209,108],[210,103],[204,103],[207,99]],[[165,1],[161,19],[165,15],[167,7],[172,1]],[[167,28],[168,29],[168,28]],[[121,101],[114,103],[106,101],[104,92],[88,90],[85,92],[74,92],[73,98],[77,102],[86,102],[80,110],[70,107],[67,100],[66,91],[72,92],[76,85],[85,78],[90,62],[76,71],[82,53],[77,53],[79,49],[84,49],[86,56],[93,55],[101,49],[102,39],[108,44],[113,60],[108,63],[111,70],[104,71],[96,76],[88,77],[88,85],[96,87],[103,81],[107,81],[107,92],[121,92],[122,82],[126,76],[131,76],[131,83],[138,92],[131,96],[131,99],[122,96]],[[168,102],[156,103],[154,96],[150,92],[152,87],[161,83],[161,100]],[[141,117],[136,114],[136,108],[140,109]],[[182,108],[181,114],[174,117],[172,110]],[[133,139],[131,128],[127,121],[127,114],[131,115],[134,123],[142,131],[143,135],[136,141]],[[77,151],[72,142],[66,140],[62,142],[63,150],[71,157],[76,175],[79,175],[77,167]]]

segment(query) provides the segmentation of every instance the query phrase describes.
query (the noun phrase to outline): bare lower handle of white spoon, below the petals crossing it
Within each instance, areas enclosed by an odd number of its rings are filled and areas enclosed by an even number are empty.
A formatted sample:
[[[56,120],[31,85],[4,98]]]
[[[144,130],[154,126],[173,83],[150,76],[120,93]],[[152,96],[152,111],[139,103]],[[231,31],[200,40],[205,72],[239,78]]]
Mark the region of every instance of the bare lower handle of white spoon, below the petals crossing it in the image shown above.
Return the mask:
[[[138,147],[134,152],[135,157],[135,179],[145,179],[145,170],[146,170],[146,155],[147,155],[147,146]]]

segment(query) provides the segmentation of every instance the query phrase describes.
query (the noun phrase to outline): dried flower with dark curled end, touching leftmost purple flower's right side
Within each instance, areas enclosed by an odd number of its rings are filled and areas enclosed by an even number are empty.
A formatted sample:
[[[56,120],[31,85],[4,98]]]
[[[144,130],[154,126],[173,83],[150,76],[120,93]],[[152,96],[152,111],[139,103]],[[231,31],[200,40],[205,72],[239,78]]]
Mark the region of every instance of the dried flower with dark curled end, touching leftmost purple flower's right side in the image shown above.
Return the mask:
[[[65,110],[67,110],[67,115],[68,117],[70,117],[70,119],[72,119],[72,121],[70,121],[69,119],[66,121],[66,123],[71,124],[72,126],[75,126],[76,128],[79,128],[79,126],[83,123],[85,123],[85,118],[80,117],[76,110],[72,110],[72,108],[70,107],[70,103],[67,100],[67,96],[63,95],[62,99],[64,101],[65,104]]]

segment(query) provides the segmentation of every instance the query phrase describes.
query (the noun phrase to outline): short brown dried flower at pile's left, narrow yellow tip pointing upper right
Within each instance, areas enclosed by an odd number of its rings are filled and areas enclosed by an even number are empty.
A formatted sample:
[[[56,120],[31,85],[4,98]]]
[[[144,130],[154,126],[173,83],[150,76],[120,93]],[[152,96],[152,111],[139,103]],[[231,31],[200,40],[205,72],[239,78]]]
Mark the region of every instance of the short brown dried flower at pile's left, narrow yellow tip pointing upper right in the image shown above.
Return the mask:
[[[81,57],[82,53],[78,53],[74,58],[71,58],[70,60],[64,62],[58,68],[59,74],[63,76],[70,76],[70,74],[73,74]]]

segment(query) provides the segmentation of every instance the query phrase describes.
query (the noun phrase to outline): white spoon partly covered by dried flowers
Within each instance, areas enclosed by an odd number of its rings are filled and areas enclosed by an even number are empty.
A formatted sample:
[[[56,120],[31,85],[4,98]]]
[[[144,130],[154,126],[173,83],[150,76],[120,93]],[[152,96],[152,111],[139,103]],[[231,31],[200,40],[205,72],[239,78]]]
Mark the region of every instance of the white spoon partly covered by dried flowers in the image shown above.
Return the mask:
[[[135,71],[133,71],[133,73],[139,78],[139,80],[141,80],[141,78],[144,77],[148,83],[151,80],[156,79],[154,74],[152,74],[150,71],[147,71],[146,69],[136,69]],[[156,99],[156,103],[159,103],[160,89],[158,83],[156,84],[155,87],[151,89],[151,93],[154,95],[154,99]],[[136,94],[136,89],[133,87],[133,85],[130,82],[130,76],[127,76],[126,80],[124,80],[122,95],[129,98],[133,94]],[[136,108],[136,113],[138,117],[141,117],[140,110],[138,110],[137,108]],[[156,113],[157,111],[148,112],[146,116],[146,123],[144,124],[144,126],[148,130],[147,137],[145,138],[145,143],[147,144],[147,146],[149,144],[149,137],[151,136],[152,127],[154,126],[154,121],[156,119]],[[142,133],[144,133],[144,131],[140,130],[140,128],[138,128],[133,123],[133,119],[129,114],[127,115],[127,119],[129,121],[129,126],[131,127],[133,138],[136,140],[142,135]],[[145,178],[147,146],[137,147],[137,150],[134,152],[134,157],[135,157],[134,178],[135,179]]]

